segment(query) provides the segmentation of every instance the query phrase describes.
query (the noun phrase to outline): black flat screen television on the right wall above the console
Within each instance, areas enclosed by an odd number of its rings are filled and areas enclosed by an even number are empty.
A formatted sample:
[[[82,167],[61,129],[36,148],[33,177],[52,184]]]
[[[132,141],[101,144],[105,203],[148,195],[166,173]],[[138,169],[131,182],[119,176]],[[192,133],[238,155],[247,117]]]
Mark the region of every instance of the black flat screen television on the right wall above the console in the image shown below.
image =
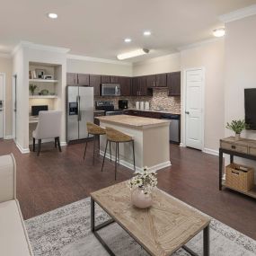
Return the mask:
[[[244,89],[245,122],[256,130],[256,88]]]

